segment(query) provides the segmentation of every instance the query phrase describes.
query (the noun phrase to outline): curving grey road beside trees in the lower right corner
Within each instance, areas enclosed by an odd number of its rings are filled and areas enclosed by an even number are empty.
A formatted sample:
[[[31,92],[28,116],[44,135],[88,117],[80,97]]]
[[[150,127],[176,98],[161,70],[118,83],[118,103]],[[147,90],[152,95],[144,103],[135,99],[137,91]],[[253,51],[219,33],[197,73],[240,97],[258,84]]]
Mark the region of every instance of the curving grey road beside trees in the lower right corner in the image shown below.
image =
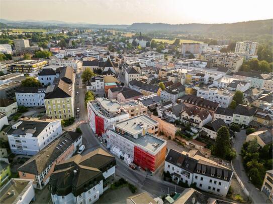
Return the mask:
[[[271,203],[265,196],[265,194],[258,189],[250,182],[248,176],[245,173],[243,162],[242,162],[242,156],[241,154],[241,148],[243,143],[245,142],[246,134],[245,130],[241,130],[241,132],[235,133],[235,138],[233,142],[233,147],[236,150],[237,156],[235,159],[233,159],[233,167],[236,171],[237,175],[239,176],[240,180],[244,184],[245,188],[249,192],[249,195],[254,203]]]

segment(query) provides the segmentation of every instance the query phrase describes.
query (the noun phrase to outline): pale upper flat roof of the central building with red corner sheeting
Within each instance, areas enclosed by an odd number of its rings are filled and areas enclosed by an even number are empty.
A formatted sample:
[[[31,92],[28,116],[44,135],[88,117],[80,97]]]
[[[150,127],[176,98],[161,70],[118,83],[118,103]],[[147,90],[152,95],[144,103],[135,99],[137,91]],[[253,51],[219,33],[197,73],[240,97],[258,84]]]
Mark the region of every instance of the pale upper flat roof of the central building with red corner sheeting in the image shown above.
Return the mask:
[[[140,123],[142,125],[140,125]],[[138,132],[141,132],[143,129],[147,129],[157,124],[158,124],[157,121],[153,120],[152,118],[145,114],[141,114],[124,120],[122,122],[118,122],[115,124],[115,127],[124,129],[126,130],[126,132],[129,132],[131,134],[137,134]]]

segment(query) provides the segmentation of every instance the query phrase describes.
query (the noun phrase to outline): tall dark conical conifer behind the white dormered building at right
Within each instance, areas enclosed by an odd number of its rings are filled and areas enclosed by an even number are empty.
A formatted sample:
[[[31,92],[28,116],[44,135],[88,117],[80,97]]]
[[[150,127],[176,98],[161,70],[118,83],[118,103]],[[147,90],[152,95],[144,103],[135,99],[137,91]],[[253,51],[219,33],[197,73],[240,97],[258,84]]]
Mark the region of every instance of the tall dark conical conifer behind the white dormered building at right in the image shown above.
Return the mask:
[[[226,126],[222,126],[217,131],[217,137],[215,141],[214,152],[216,156],[221,158],[227,158],[230,155],[231,144],[230,144],[230,134]]]

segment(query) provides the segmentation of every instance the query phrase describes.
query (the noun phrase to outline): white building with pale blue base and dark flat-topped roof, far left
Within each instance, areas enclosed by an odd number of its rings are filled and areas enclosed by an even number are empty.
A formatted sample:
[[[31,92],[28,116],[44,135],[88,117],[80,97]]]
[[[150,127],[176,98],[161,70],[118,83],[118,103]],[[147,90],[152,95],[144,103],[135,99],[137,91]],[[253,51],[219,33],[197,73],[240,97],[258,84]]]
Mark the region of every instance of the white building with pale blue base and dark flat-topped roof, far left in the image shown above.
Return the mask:
[[[21,118],[7,132],[12,153],[35,155],[62,132],[61,120]]]

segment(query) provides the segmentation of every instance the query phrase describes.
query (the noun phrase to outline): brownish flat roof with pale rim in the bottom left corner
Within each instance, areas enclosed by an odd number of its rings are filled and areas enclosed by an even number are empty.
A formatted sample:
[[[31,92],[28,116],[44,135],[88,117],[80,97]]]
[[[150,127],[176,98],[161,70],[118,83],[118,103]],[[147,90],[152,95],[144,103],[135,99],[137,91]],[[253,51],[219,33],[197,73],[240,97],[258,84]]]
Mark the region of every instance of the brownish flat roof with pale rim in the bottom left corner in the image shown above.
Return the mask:
[[[27,189],[32,185],[31,179],[15,179],[12,178],[6,185],[0,190],[0,203],[17,203]],[[14,190],[14,191],[13,191]],[[14,194],[15,193],[15,194]],[[20,195],[20,196],[19,196]]]

